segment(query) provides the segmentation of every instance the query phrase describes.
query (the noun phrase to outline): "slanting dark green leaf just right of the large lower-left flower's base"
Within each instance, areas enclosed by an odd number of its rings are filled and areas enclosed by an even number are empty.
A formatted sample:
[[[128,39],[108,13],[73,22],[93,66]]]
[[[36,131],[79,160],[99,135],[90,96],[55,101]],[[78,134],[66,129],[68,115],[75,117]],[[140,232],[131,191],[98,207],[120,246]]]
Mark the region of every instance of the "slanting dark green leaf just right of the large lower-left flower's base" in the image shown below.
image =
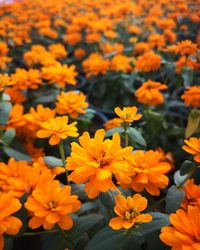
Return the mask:
[[[76,220],[75,225],[69,234],[70,238],[77,239],[103,219],[104,217],[101,214],[81,216],[78,220]]]

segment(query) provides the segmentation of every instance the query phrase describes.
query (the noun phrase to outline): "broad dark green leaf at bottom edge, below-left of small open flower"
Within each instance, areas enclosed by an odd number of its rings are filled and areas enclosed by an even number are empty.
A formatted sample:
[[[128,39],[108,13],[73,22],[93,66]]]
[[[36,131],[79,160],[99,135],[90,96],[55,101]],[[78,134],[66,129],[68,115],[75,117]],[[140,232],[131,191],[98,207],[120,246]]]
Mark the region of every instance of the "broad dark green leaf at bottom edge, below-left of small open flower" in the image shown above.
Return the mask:
[[[101,229],[86,245],[85,250],[118,250],[126,244],[125,230]]]

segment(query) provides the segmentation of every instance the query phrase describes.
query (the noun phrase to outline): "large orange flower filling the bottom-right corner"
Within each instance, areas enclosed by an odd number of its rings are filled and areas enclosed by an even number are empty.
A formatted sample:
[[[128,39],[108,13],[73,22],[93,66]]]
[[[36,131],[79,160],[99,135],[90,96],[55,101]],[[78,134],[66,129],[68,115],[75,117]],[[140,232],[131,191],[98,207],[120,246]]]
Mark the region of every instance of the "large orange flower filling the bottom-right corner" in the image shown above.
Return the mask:
[[[200,249],[200,208],[189,206],[187,211],[178,209],[170,215],[172,226],[163,227],[160,239],[173,250]]]

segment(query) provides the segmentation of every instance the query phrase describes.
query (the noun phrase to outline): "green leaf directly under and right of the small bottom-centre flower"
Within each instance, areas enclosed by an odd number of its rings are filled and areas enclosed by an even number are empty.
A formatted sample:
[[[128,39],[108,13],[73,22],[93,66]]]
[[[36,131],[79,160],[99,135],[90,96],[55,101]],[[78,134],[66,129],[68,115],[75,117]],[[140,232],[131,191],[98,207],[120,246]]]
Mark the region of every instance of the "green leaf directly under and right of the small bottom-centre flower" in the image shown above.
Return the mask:
[[[160,228],[168,226],[169,222],[169,215],[159,213],[159,212],[152,212],[149,213],[152,215],[152,221],[148,223],[141,223],[136,228],[133,228],[132,234],[137,236],[146,236],[149,233],[152,233],[156,230],[160,230]]]

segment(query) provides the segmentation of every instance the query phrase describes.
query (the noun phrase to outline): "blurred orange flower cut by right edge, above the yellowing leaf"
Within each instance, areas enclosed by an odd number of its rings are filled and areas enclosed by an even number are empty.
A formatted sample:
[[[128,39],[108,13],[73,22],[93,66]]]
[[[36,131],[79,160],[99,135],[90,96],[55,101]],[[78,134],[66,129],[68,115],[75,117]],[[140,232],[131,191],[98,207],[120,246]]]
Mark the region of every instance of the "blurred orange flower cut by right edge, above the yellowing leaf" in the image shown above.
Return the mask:
[[[181,99],[186,106],[200,107],[200,86],[191,86],[185,90]]]

